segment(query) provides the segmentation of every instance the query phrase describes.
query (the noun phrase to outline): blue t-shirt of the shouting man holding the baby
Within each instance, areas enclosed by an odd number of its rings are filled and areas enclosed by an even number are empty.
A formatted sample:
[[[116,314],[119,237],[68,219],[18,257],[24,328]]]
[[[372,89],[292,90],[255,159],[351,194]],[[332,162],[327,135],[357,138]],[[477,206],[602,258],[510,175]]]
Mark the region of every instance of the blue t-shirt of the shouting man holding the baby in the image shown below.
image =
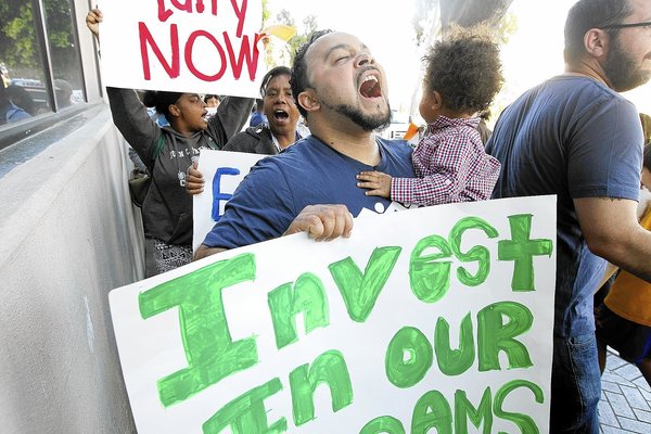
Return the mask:
[[[376,141],[382,161],[375,167],[341,154],[314,136],[261,159],[240,183],[203,243],[234,248],[278,238],[308,205],[344,204],[354,216],[362,208],[385,210],[391,201],[367,196],[355,176],[373,169],[400,178],[414,174],[407,142]]]

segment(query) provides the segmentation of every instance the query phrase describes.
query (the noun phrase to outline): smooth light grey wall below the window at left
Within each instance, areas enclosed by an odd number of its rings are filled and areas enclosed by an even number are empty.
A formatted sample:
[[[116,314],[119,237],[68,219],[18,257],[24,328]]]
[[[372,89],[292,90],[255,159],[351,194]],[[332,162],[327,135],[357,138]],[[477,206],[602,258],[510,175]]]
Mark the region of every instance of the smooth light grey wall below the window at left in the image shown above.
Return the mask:
[[[107,293],[142,276],[140,220],[108,108],[85,116],[0,178],[4,433],[136,431]]]

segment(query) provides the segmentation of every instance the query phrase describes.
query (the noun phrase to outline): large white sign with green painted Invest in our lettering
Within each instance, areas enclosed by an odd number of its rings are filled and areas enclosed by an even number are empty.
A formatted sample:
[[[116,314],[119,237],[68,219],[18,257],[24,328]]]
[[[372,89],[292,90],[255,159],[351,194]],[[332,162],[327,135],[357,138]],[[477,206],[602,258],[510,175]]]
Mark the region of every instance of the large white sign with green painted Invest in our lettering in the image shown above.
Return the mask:
[[[114,290],[138,432],[547,433],[554,240],[554,196],[442,205]]]

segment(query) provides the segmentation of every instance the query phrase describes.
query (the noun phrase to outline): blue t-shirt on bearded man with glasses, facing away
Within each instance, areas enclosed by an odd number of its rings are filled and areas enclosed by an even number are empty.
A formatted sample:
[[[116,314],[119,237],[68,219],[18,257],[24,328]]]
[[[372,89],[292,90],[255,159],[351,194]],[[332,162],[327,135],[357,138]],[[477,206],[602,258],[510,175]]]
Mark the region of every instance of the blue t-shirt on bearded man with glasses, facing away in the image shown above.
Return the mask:
[[[635,105],[576,76],[553,77],[525,92],[503,111],[486,143],[502,165],[494,197],[558,195],[557,335],[595,330],[592,293],[605,266],[588,250],[573,200],[637,201],[641,146]]]

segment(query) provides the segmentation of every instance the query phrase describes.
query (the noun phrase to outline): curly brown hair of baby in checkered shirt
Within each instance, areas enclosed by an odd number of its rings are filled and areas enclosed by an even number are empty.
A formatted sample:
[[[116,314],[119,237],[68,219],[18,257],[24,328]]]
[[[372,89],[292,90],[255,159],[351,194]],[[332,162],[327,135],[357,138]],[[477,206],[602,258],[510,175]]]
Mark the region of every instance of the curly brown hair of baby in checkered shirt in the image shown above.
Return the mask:
[[[454,28],[423,62],[423,91],[437,91],[446,108],[460,113],[488,108],[503,81],[499,47],[483,27]]]

